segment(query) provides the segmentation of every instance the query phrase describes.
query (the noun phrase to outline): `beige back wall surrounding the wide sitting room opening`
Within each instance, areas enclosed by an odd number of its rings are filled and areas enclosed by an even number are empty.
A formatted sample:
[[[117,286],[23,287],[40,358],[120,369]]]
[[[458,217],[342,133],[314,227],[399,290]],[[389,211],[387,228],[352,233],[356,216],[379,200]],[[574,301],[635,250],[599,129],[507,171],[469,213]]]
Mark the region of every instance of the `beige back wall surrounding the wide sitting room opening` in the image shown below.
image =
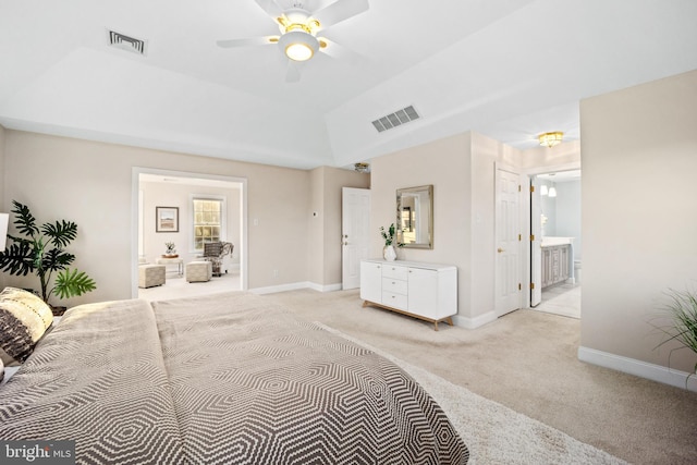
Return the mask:
[[[247,179],[249,289],[309,279],[308,171],[17,131],[4,134],[5,205],[16,199],[41,222],[69,219],[78,225],[71,247],[77,256],[74,265],[98,287],[63,304],[131,297],[132,255],[137,250],[132,247],[133,167]],[[28,277],[2,273],[0,279],[3,285],[36,285]]]

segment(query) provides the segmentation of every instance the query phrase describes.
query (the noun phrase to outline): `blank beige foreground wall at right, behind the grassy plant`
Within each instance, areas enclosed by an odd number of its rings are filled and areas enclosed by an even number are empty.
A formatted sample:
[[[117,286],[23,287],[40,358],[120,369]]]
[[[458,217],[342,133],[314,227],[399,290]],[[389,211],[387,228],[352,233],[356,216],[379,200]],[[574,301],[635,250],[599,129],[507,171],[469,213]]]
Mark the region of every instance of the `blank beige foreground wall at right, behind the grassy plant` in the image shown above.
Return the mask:
[[[668,287],[697,289],[697,71],[586,99],[580,117],[582,346],[668,366],[648,321]]]

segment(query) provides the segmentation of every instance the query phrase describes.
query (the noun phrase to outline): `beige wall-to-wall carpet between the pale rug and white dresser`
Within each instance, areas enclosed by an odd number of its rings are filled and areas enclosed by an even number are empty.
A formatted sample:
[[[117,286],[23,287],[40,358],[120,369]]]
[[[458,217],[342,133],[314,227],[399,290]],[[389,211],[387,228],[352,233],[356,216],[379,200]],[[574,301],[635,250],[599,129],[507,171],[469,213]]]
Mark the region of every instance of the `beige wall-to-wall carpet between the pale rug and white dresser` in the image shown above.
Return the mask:
[[[697,394],[579,362],[576,318],[518,310],[433,331],[364,308],[357,290],[265,297],[629,463],[697,464]]]

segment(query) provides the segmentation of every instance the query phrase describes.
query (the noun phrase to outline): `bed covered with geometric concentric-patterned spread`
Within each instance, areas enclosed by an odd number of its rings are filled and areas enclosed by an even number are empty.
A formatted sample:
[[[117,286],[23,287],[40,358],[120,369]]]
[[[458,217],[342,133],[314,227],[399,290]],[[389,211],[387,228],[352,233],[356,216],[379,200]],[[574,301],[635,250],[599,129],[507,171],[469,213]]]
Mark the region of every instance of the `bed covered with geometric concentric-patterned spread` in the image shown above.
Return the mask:
[[[0,440],[77,463],[465,464],[393,363],[243,292],[82,305],[0,387]]]

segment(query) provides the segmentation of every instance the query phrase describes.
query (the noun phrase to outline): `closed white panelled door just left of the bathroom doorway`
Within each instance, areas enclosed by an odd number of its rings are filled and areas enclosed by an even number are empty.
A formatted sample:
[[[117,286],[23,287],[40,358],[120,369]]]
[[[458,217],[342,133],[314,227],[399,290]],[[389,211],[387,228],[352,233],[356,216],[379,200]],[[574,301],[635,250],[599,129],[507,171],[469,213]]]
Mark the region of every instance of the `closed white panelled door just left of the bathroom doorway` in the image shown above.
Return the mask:
[[[521,307],[521,181],[518,173],[497,168],[497,295],[498,316]]]

